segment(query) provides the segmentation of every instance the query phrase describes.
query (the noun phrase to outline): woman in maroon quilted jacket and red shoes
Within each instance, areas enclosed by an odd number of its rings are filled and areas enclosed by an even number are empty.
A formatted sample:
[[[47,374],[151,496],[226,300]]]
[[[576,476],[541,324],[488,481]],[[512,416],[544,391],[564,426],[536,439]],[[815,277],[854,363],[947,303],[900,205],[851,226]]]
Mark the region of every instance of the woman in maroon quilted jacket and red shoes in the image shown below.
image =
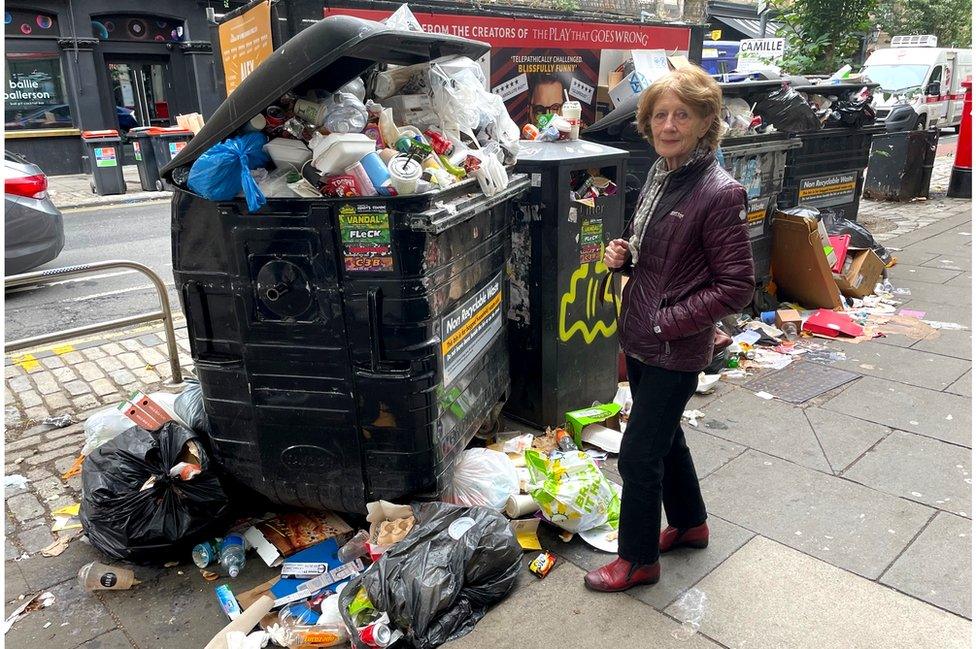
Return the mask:
[[[753,296],[746,192],[715,161],[722,91],[698,67],[658,79],[640,99],[637,127],[660,159],[641,191],[629,240],[604,263],[630,276],[620,344],[634,405],[620,447],[619,558],[586,575],[593,590],[660,579],[660,552],[708,545],[705,503],[681,413],[711,361],[715,322]],[[661,503],[668,527],[661,531]]]

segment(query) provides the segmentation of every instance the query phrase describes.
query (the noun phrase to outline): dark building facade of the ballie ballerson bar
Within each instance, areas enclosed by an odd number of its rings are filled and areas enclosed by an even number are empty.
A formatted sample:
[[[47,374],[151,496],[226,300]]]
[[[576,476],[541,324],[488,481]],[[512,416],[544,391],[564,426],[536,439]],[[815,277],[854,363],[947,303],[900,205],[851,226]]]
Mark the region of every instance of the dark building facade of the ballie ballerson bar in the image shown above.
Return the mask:
[[[49,175],[87,171],[83,131],[204,118],[223,99],[208,2],[8,2],[5,146]],[[219,3],[222,8],[222,3]],[[237,5],[239,3],[233,3]]]

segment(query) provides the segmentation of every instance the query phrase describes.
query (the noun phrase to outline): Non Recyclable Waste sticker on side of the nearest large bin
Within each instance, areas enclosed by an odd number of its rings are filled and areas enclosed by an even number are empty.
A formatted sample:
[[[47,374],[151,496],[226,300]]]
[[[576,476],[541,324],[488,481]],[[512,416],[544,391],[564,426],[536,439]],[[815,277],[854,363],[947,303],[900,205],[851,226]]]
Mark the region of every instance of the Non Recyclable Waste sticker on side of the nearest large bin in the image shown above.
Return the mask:
[[[450,384],[502,330],[502,274],[441,318],[444,385]]]

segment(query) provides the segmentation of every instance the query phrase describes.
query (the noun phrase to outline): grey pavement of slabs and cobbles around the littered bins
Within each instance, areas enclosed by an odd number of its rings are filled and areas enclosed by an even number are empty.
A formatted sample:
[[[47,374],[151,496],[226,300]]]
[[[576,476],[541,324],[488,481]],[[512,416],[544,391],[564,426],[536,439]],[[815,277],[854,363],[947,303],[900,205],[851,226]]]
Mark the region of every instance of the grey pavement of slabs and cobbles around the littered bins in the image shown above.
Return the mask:
[[[969,647],[971,208],[938,192],[861,206],[862,222],[886,224],[878,238],[899,259],[890,280],[903,307],[964,329],[827,342],[843,356],[825,362],[857,378],[798,406],[761,399],[742,381],[694,397],[689,408],[705,416],[686,431],[710,512],[707,549],[664,555],[655,586],[603,595],[582,577],[609,555],[543,526],[543,546],[559,556],[552,573],[523,572],[449,646]],[[185,329],[177,335],[190,370]],[[55,537],[52,510],[78,501],[79,479],[60,476],[84,441],[80,423],[55,428],[44,418],[82,421],[136,388],[177,390],[167,385],[163,343],[147,326],[5,357],[4,473],[27,478],[5,490],[5,610],[22,595],[55,596],[14,624],[9,646],[203,646],[226,623],[213,594],[226,580],[205,582],[188,560],[136,567],[142,583],[131,591],[88,594],[75,575],[100,557],[84,540],[57,557],[38,553]],[[605,472],[619,482],[614,460]],[[252,559],[227,583],[241,592],[273,574]],[[707,598],[697,624],[689,591]]]

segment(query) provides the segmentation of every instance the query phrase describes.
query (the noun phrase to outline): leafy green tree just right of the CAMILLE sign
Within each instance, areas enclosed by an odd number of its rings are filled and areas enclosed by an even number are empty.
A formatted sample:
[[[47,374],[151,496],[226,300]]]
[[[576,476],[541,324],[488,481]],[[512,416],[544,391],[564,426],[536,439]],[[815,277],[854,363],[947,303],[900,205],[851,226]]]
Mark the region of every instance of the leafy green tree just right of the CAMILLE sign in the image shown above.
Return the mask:
[[[851,63],[873,27],[877,2],[773,0],[782,24],[777,36],[786,39],[781,67],[794,74],[825,74]]]

